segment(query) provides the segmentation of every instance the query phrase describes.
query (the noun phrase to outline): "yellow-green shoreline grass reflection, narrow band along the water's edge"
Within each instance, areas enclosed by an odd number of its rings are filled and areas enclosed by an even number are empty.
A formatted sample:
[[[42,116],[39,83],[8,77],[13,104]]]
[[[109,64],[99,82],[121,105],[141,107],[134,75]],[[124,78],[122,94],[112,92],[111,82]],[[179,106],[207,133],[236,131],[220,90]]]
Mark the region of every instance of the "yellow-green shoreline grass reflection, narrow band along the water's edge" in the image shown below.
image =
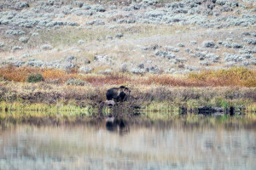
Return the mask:
[[[252,124],[256,122],[255,113],[236,114],[230,116],[223,115],[197,115],[187,114],[180,115],[179,111],[141,111],[140,116],[133,116],[129,111],[113,112],[113,109],[105,108],[102,111],[102,116],[113,115],[117,119],[124,119],[125,122],[133,122],[138,125],[150,123],[160,123],[160,126],[191,126],[191,127],[205,127],[205,126],[225,126]],[[98,115],[96,110],[87,108],[87,110],[34,110],[34,111],[7,111],[0,112],[0,123],[2,122],[30,122],[34,124],[62,124],[62,123],[77,123],[77,122],[101,122],[104,119]]]

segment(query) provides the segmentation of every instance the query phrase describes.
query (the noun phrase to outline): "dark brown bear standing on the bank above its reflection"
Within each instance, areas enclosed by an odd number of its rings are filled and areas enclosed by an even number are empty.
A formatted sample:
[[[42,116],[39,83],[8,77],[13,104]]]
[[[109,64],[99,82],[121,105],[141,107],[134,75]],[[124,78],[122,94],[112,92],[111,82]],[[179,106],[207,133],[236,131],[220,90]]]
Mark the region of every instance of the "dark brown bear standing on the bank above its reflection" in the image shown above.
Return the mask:
[[[113,99],[115,102],[125,101],[127,96],[130,94],[130,88],[126,88],[125,86],[120,86],[119,88],[110,88],[106,94],[107,99]]]

